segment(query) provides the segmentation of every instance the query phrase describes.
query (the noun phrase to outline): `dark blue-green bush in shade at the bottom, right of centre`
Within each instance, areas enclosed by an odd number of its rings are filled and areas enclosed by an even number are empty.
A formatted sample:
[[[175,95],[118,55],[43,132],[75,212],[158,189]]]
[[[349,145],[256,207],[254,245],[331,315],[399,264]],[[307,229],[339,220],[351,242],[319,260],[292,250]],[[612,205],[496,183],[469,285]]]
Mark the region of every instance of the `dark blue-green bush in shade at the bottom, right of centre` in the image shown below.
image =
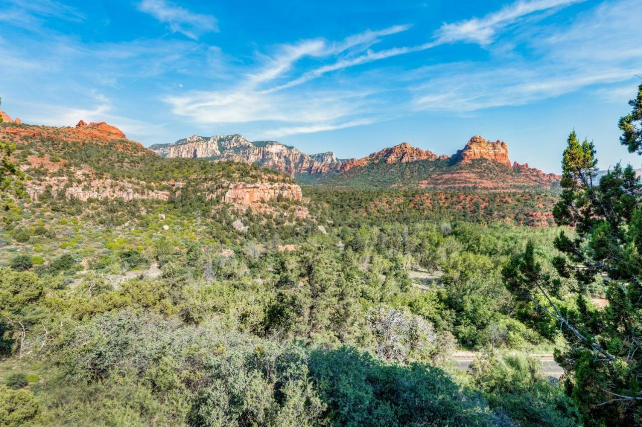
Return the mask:
[[[492,423],[492,417],[480,410],[483,401],[459,389],[438,368],[385,365],[368,353],[342,347],[312,353],[310,373],[334,425]]]

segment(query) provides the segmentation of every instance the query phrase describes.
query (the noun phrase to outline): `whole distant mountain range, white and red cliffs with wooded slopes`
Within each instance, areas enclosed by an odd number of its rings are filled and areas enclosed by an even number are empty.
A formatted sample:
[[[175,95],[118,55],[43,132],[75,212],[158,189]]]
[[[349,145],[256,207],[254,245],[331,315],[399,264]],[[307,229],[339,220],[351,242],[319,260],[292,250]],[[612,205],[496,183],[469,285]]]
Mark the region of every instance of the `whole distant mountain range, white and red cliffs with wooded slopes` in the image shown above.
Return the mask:
[[[555,187],[559,176],[511,163],[508,145],[474,136],[455,155],[407,142],[363,158],[339,160],[333,153],[306,155],[275,141],[250,142],[241,135],[193,137],[150,149],[168,158],[246,162],[285,172],[302,183],[356,188],[521,190]]]

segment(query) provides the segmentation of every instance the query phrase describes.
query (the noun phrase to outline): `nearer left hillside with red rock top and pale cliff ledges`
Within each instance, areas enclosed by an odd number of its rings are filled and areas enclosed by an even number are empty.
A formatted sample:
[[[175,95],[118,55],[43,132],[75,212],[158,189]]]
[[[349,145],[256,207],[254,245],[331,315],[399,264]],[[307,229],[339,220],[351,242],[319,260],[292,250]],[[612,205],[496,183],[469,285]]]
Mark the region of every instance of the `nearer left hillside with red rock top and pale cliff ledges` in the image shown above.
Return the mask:
[[[307,215],[290,176],[243,162],[160,158],[104,122],[80,121],[74,128],[3,122],[0,139],[15,144],[13,156],[34,202],[62,195],[81,201],[168,201],[189,194],[256,212],[272,212],[268,205],[286,199],[293,202],[283,206],[286,210]]]

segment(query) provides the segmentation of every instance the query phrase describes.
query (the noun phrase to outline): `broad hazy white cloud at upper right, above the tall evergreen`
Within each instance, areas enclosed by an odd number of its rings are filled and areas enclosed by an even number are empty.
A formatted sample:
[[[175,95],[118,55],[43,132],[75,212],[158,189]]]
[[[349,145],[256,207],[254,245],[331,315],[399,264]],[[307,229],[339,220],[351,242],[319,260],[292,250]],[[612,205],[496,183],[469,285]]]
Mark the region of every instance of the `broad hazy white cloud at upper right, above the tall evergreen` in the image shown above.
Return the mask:
[[[630,37],[630,28],[642,20],[635,4],[604,3],[571,24],[546,28],[546,37],[528,33],[522,40],[532,54],[528,57],[426,68],[423,76],[415,76],[413,105],[418,110],[465,113],[629,81],[642,69],[642,47]]]

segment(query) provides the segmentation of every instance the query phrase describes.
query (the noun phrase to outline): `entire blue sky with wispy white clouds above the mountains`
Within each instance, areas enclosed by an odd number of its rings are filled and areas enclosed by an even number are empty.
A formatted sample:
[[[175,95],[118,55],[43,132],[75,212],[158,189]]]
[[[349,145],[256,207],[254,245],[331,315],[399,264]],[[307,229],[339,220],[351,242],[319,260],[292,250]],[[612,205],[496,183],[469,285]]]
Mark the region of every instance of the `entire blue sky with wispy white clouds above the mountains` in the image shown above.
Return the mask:
[[[241,133],[341,158],[400,142],[450,155],[482,135],[547,172],[575,128],[601,167],[640,167],[617,121],[641,22],[639,0],[9,0],[1,108],[107,121],[146,146]]]

